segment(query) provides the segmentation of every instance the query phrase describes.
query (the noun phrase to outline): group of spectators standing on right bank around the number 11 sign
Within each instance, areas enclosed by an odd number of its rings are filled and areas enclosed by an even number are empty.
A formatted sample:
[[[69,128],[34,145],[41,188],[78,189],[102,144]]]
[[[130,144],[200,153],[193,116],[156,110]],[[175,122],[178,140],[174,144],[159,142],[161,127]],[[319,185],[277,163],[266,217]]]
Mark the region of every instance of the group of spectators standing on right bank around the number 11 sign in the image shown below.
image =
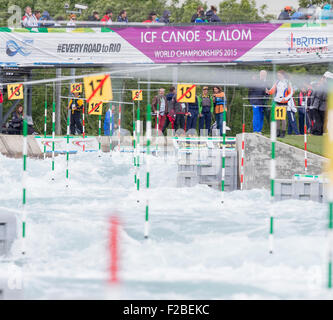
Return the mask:
[[[327,107],[328,79],[333,79],[333,73],[325,72],[318,83],[304,82],[297,90],[293,87],[287,73],[277,72],[277,80],[270,88],[267,72],[261,70],[259,79],[253,77],[254,86],[249,89],[248,99],[253,108],[253,132],[262,133],[264,119],[270,123],[270,96],[276,107],[283,107],[286,119],[277,120],[277,136],[288,135],[323,135],[325,112]],[[296,114],[298,113],[298,123]],[[288,119],[288,128],[287,128]]]

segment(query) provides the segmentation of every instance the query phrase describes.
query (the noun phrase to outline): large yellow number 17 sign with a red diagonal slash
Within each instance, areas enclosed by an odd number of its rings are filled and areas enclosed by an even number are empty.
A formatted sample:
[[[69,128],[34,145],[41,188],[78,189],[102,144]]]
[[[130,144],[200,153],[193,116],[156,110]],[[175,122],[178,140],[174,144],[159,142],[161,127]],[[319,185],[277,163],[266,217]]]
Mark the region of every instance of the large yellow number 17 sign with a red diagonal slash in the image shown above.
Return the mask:
[[[83,78],[87,102],[112,100],[111,78],[108,74]]]

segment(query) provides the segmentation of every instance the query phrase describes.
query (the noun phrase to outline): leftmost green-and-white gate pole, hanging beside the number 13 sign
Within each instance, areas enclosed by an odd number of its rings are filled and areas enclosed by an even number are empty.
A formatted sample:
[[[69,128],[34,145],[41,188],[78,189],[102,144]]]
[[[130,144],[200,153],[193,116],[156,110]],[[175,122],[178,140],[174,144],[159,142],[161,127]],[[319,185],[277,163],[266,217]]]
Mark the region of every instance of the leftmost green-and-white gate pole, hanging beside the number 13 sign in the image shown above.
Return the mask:
[[[22,172],[22,254],[26,253],[26,204],[27,204],[27,151],[28,151],[28,120],[27,120],[27,86],[24,86],[24,111],[23,111],[23,172]]]

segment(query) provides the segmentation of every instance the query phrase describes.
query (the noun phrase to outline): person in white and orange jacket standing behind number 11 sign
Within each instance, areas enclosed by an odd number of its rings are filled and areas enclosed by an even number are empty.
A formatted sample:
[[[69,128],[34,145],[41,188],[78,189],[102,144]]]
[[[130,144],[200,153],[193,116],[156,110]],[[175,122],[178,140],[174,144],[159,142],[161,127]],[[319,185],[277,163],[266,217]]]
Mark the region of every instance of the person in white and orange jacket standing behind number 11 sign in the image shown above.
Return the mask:
[[[277,107],[287,108],[288,102],[292,98],[294,90],[283,70],[277,72],[277,78],[278,80],[275,82],[273,87],[270,90],[266,89],[266,93],[270,95],[274,94],[274,101],[276,102]],[[286,135],[286,120],[276,120],[276,126],[277,137],[284,138]],[[282,130],[280,126],[282,126]]]

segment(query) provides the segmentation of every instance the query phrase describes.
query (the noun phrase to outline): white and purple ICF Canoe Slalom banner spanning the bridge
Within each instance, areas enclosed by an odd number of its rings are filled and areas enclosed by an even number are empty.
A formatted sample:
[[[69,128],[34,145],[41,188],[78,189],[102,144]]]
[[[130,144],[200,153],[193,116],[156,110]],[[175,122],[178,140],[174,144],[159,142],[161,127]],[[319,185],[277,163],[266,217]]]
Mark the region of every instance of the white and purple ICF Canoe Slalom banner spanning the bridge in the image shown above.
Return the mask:
[[[333,24],[0,28],[0,65],[297,62],[332,59]]]

